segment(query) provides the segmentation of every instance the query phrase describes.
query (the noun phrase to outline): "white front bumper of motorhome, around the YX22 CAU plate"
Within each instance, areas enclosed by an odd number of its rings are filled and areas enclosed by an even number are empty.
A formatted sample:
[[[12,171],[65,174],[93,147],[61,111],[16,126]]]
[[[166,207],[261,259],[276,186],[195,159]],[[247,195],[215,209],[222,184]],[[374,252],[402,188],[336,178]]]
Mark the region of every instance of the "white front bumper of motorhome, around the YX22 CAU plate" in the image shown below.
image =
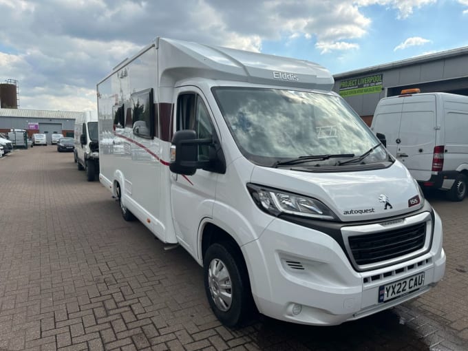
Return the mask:
[[[404,262],[358,272],[330,235],[275,219],[242,247],[253,297],[264,315],[311,325],[336,325],[385,310],[427,292],[445,272],[443,230],[434,213],[428,252]],[[418,290],[379,303],[379,287],[425,273]]]

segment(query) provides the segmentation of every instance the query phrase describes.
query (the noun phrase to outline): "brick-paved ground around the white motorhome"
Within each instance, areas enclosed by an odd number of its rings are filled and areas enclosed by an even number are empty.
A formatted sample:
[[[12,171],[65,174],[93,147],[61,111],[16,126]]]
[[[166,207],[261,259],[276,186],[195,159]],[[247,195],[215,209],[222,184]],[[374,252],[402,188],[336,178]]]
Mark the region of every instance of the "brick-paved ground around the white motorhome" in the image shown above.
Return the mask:
[[[0,350],[468,350],[468,199],[443,217],[447,273],[404,306],[337,327],[224,328],[202,269],[125,222],[54,147],[0,159]]]

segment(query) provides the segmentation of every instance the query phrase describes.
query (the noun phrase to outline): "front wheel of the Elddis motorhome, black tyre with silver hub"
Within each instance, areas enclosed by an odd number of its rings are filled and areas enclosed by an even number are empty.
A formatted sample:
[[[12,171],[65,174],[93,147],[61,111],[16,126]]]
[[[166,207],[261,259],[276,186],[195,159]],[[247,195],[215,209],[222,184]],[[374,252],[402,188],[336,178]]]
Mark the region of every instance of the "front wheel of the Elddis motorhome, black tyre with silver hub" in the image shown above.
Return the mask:
[[[203,258],[206,297],[217,319],[228,327],[241,326],[254,310],[251,284],[241,255],[237,247],[226,242],[212,244]],[[213,274],[214,267],[221,268],[219,272],[224,270],[223,284],[219,284],[220,277]],[[220,287],[224,288],[225,295],[231,294],[230,304],[219,294]]]

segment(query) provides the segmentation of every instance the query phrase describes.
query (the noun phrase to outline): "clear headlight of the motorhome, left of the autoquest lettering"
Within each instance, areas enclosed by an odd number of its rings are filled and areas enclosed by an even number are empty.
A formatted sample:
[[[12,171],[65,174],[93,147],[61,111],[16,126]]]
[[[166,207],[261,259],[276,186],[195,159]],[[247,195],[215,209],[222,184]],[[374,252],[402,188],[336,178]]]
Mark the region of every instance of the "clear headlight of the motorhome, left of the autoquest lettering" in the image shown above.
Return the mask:
[[[275,217],[288,213],[319,220],[338,220],[328,206],[317,199],[251,183],[247,184],[247,189],[259,209]]]

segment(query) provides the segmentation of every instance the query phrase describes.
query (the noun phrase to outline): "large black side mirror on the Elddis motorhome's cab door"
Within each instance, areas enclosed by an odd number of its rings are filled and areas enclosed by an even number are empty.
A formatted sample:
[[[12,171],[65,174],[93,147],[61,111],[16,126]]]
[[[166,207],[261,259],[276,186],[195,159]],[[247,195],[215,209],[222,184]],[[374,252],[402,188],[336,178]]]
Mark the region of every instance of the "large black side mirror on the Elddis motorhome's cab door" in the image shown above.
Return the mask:
[[[198,160],[198,147],[211,145],[211,139],[197,139],[194,130],[176,131],[171,141],[171,172],[184,175],[194,175],[197,169],[208,167],[210,161]]]

